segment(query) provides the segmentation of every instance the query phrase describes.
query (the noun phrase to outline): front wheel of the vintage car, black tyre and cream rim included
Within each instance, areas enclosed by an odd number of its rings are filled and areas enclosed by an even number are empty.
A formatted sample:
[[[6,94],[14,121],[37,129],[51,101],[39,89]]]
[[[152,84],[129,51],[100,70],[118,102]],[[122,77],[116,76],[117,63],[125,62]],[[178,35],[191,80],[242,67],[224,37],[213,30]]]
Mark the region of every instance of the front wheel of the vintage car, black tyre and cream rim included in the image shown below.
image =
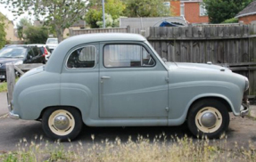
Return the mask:
[[[229,125],[227,106],[217,99],[197,101],[188,112],[187,125],[194,136],[217,139]]]

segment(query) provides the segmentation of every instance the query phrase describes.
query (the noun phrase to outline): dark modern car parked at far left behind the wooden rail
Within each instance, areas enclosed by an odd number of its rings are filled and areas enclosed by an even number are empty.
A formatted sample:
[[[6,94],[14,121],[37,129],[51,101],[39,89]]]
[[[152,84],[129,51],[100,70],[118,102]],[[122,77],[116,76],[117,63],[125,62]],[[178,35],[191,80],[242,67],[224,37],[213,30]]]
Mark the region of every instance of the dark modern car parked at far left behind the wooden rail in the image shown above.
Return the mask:
[[[0,80],[6,80],[6,63],[44,63],[45,56],[35,45],[6,45],[0,50]]]

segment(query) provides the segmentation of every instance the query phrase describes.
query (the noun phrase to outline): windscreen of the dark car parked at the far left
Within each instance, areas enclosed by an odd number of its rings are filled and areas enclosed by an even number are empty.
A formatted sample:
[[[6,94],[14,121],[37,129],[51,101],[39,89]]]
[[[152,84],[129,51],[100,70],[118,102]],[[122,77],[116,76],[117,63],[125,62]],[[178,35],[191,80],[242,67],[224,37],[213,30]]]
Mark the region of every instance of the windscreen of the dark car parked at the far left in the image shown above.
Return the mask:
[[[7,47],[0,51],[0,58],[24,58],[27,49],[25,47]]]

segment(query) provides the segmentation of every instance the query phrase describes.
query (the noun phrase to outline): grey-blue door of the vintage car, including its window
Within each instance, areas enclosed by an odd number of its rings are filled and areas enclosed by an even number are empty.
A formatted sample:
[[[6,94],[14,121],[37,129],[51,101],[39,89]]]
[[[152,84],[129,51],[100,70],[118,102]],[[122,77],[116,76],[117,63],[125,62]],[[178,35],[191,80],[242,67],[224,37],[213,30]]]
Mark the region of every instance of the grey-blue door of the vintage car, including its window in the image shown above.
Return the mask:
[[[100,117],[168,117],[168,77],[143,43],[100,45]]]

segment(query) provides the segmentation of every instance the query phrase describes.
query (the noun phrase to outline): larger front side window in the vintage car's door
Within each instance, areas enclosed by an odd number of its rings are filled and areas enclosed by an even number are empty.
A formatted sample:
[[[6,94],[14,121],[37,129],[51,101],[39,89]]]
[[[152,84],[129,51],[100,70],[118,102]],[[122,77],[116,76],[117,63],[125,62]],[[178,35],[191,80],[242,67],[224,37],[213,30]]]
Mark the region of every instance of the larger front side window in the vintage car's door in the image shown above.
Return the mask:
[[[155,61],[142,45],[104,45],[103,65],[106,68],[153,67]]]

